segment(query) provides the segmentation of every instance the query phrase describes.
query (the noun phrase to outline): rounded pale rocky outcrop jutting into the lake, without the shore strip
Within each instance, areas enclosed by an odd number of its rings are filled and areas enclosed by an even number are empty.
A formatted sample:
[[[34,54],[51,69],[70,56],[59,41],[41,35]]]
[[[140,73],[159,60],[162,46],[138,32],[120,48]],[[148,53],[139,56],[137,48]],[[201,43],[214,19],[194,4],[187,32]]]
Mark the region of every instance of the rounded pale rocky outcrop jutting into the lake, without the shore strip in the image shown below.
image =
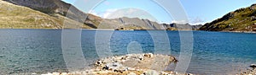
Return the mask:
[[[176,58],[173,56],[153,55],[152,53],[128,54],[99,60],[96,62],[96,67],[99,69],[118,71],[135,70],[137,68],[162,70],[171,62],[177,62]]]

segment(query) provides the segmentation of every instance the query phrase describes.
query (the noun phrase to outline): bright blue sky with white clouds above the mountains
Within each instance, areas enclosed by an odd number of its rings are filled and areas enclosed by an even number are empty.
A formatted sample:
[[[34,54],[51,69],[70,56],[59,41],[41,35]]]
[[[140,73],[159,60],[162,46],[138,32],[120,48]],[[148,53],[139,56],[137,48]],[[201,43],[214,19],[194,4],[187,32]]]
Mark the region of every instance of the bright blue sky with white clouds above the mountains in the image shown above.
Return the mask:
[[[159,23],[185,23],[173,19],[172,13],[166,12],[166,8],[155,3],[154,0],[102,0],[101,3],[96,2],[101,0],[62,1],[73,4],[84,13],[92,13],[104,19],[138,17]],[[189,24],[205,24],[238,8],[249,7],[256,3],[256,0],[179,0],[179,3],[189,19]],[[177,5],[172,1],[170,4]]]

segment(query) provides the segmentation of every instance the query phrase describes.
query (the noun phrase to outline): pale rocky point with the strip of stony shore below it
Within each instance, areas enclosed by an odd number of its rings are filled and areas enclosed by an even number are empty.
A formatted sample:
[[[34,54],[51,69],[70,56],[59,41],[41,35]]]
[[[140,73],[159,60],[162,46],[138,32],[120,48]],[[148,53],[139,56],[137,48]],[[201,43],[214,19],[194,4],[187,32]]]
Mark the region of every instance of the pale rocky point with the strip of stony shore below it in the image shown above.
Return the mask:
[[[102,58],[94,63],[95,68],[80,72],[52,72],[42,75],[192,75],[165,71],[177,59],[170,55],[152,53],[128,54]]]

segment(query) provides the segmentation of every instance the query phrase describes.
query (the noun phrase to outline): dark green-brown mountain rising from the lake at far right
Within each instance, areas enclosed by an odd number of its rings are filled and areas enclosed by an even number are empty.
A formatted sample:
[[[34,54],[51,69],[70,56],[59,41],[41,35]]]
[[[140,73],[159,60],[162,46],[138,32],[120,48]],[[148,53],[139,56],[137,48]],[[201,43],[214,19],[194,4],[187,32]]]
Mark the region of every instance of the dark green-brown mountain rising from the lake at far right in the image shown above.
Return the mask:
[[[256,31],[256,4],[225,14],[222,18],[204,24],[201,30]]]

